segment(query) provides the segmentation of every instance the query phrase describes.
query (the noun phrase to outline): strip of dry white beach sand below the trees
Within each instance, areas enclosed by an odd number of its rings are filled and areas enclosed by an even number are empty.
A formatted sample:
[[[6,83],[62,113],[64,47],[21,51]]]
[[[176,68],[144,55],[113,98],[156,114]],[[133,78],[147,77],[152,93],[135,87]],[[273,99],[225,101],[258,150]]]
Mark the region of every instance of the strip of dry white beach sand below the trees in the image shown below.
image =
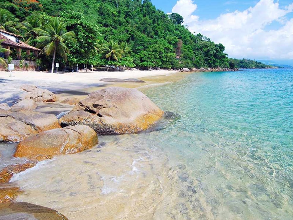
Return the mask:
[[[40,88],[76,90],[88,87],[96,87],[108,82],[102,82],[103,78],[141,78],[159,75],[169,75],[176,71],[153,70],[139,71],[126,70],[124,72],[107,72],[107,71],[88,71],[88,72],[65,72],[65,73],[48,73],[36,71],[14,71],[12,77],[10,72],[0,71],[0,103],[9,102],[12,97],[20,96],[23,93],[19,87],[22,84],[33,84]]]

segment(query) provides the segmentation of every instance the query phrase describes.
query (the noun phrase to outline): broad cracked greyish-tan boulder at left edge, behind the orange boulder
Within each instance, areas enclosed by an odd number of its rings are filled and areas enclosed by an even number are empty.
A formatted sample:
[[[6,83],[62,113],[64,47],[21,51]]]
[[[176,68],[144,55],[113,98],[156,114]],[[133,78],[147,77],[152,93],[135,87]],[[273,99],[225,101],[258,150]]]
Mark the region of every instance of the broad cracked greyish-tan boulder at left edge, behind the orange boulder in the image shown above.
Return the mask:
[[[35,111],[6,111],[0,114],[0,141],[18,142],[30,135],[60,128],[55,115]]]

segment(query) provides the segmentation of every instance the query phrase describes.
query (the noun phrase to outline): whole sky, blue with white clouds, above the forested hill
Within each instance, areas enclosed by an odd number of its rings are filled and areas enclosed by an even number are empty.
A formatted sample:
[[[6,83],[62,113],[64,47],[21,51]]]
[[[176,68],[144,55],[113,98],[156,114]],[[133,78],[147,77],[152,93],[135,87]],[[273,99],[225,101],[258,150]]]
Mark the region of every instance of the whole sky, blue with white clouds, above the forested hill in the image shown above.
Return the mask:
[[[176,12],[191,32],[223,43],[229,57],[293,65],[293,0],[152,0]]]

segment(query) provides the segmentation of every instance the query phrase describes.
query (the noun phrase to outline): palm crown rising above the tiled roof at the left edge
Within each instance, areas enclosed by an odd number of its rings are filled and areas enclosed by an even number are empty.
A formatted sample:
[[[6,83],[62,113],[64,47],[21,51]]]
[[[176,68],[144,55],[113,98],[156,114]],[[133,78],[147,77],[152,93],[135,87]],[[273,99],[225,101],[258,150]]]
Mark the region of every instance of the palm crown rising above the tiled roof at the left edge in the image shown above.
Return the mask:
[[[19,33],[16,29],[18,18],[5,9],[0,9],[0,29],[11,33]]]

